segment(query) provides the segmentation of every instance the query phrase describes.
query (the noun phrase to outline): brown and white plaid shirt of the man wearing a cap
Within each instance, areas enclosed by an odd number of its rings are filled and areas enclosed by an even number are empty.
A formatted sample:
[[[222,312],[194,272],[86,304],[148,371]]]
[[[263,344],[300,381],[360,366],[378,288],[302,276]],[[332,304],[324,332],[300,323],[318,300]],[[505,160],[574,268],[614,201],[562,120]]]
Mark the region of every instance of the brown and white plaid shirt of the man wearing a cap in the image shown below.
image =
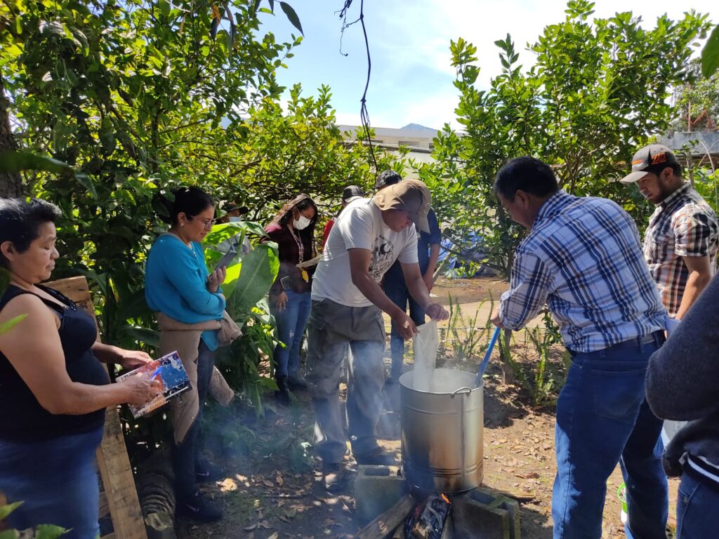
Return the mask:
[[[690,183],[656,206],[644,235],[644,258],[669,316],[677,315],[687,287],[683,257],[709,257],[714,270],[718,245],[717,217]]]

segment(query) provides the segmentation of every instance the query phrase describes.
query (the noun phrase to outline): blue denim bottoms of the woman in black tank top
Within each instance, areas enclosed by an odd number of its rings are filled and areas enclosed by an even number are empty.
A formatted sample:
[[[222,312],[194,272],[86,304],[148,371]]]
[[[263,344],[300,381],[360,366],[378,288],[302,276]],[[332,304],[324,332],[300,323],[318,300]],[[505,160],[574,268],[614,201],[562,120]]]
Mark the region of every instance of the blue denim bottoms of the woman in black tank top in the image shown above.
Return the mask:
[[[7,518],[12,528],[39,524],[66,529],[67,539],[95,539],[99,486],[95,451],[103,428],[38,442],[0,441],[0,492],[22,501]]]

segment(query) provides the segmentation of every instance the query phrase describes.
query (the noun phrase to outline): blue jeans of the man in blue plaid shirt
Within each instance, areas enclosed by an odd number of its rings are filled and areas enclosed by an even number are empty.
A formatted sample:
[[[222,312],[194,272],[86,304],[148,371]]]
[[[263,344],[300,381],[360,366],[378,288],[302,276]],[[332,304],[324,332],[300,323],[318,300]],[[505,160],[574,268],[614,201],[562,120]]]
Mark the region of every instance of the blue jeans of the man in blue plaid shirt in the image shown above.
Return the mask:
[[[644,392],[647,362],[660,340],[573,354],[557,401],[554,539],[600,539],[607,479],[617,463],[626,483],[627,537],[666,539],[661,420]]]

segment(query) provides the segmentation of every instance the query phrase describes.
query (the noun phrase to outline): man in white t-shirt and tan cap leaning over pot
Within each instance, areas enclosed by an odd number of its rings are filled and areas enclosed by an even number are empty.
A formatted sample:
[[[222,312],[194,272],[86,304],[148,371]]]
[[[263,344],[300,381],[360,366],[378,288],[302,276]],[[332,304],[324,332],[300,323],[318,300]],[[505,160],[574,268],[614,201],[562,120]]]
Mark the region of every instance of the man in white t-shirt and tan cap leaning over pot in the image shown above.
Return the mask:
[[[433,320],[446,320],[446,310],[432,303],[417,262],[413,223],[429,230],[431,198],[419,180],[405,180],[353,201],[331,229],[312,285],[308,323],[308,374],[317,420],[315,445],[322,457],[326,489],[342,488],[342,458],[347,436],[339,405],[339,377],[349,344],[347,430],[357,464],[394,464],[377,445],[375,427],[382,411],[383,351],[388,313],[404,338],[416,327],[385,295],[379,283],[399,259],[412,297]]]

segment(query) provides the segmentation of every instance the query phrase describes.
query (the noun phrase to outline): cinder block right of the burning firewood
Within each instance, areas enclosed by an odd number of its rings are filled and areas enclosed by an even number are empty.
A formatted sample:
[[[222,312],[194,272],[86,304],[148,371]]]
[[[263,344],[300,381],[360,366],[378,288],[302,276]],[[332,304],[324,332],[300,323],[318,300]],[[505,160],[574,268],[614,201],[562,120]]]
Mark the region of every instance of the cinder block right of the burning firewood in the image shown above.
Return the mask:
[[[452,499],[456,539],[520,539],[516,500],[474,489]]]

